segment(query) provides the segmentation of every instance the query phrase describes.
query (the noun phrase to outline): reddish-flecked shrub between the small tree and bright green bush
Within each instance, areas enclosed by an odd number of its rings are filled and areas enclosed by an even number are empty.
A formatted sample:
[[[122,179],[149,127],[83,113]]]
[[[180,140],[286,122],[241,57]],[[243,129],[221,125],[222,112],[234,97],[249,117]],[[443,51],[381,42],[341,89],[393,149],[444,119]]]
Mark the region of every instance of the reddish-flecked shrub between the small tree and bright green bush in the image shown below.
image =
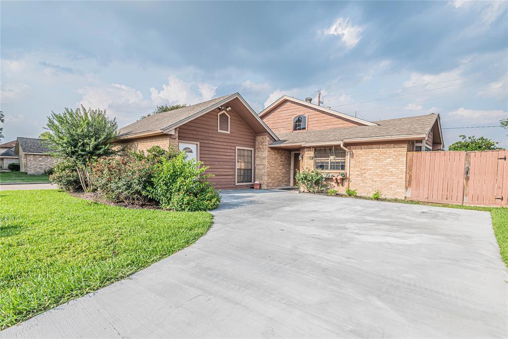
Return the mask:
[[[146,189],[156,165],[178,154],[174,148],[164,150],[153,146],[146,155],[143,151],[127,151],[116,157],[101,158],[93,166],[94,184],[106,199],[134,205],[146,204],[150,200]]]

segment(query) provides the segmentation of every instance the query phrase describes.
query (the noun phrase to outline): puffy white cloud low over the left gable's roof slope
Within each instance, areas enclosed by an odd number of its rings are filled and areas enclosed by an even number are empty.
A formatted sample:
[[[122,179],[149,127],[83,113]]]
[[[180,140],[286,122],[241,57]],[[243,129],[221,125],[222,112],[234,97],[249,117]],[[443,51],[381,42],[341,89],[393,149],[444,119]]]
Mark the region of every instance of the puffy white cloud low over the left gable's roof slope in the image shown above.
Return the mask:
[[[171,104],[197,104],[202,101],[210,100],[215,95],[216,86],[202,82],[198,83],[200,95],[193,90],[195,83],[185,82],[182,79],[170,75],[168,83],[164,84],[161,90],[154,87],[150,88],[151,99],[155,103],[168,102]]]

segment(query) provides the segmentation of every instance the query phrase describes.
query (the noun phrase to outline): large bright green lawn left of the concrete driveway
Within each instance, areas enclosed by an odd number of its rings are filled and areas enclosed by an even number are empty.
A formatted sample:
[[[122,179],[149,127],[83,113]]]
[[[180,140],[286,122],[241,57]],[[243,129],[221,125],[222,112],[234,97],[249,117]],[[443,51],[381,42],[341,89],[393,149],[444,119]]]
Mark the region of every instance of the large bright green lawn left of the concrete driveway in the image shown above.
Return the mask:
[[[194,243],[208,212],[128,209],[56,190],[0,192],[0,329]]]

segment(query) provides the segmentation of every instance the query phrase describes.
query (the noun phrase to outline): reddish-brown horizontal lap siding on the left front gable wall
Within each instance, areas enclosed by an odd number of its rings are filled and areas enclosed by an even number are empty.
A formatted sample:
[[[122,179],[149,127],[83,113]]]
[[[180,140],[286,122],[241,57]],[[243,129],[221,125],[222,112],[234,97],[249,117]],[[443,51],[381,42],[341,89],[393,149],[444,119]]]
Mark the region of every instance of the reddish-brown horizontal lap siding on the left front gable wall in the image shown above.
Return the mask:
[[[208,180],[216,189],[250,187],[250,184],[235,185],[235,148],[254,148],[254,133],[233,110],[228,111],[230,133],[218,132],[217,113],[214,110],[180,126],[178,140],[199,142],[199,160],[210,167],[206,173],[215,175]]]

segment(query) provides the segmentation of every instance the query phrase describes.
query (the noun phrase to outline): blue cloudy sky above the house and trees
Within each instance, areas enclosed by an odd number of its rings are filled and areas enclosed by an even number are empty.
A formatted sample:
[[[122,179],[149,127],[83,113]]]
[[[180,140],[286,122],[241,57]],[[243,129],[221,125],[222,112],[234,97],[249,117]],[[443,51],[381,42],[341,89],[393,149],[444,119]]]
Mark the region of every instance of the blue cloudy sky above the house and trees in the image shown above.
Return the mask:
[[[499,125],[507,5],[2,1],[4,141],[37,137],[64,107],[105,108],[121,127],[157,104],[237,91],[258,112],[321,89],[325,106],[368,120],[437,112],[443,128]],[[499,127],[443,132],[447,145],[466,134],[508,147]]]

